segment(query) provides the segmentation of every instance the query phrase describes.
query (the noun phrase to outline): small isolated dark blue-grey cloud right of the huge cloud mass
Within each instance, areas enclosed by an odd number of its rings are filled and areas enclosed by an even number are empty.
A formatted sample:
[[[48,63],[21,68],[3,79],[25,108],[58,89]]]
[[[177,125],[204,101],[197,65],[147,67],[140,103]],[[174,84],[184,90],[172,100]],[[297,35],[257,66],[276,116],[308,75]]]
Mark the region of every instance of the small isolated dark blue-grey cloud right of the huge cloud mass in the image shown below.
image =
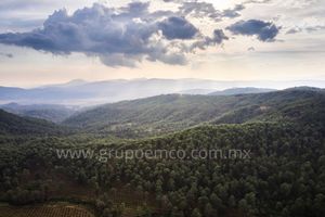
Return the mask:
[[[259,20],[238,21],[226,27],[234,35],[257,36],[261,41],[274,41],[281,27]]]

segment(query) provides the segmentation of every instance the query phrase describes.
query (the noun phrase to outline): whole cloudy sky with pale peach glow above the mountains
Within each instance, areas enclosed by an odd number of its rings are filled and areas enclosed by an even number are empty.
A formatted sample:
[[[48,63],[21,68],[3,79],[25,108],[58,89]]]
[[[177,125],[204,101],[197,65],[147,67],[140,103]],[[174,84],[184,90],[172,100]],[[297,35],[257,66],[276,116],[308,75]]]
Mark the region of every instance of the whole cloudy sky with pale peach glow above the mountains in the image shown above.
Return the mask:
[[[1,0],[0,86],[325,80],[324,0]]]

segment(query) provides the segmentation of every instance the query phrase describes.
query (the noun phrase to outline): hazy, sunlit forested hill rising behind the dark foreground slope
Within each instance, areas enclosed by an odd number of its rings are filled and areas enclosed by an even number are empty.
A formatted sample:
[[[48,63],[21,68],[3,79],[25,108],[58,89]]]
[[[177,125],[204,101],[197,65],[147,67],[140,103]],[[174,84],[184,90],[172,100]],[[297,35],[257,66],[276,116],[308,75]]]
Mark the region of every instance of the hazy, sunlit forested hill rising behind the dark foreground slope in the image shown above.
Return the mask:
[[[324,110],[325,92],[316,88],[237,95],[167,94],[105,104],[72,116],[64,124],[119,137],[141,137],[203,123],[284,119],[322,123]]]

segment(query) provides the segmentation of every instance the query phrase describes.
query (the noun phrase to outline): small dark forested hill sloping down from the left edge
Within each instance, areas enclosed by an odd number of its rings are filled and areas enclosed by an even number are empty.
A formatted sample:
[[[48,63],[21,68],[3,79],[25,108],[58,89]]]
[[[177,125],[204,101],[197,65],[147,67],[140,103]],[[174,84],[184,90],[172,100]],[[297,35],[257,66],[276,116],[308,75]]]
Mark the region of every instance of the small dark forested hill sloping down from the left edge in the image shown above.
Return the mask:
[[[62,135],[66,128],[50,122],[31,117],[21,117],[0,110],[0,135]]]

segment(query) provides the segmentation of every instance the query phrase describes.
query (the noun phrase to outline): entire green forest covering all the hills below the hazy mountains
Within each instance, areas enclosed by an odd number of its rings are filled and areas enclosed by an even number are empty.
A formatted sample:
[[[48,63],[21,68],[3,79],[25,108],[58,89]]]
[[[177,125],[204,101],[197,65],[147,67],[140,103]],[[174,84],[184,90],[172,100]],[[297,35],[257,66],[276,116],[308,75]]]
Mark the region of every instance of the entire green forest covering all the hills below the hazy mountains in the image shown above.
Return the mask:
[[[57,150],[249,150],[249,157],[66,157]],[[99,217],[325,216],[325,91],[167,94],[58,124],[0,111],[0,200]]]

